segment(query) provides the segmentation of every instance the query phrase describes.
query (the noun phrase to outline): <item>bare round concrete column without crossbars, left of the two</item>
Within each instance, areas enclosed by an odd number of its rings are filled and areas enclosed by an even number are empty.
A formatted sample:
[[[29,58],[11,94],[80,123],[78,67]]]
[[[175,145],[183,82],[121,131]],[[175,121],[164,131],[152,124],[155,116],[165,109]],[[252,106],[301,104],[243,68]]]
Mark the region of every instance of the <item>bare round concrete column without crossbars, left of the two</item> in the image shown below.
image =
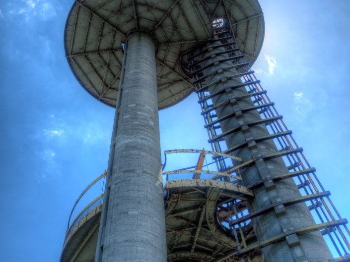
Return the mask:
[[[96,254],[102,262],[166,262],[155,43],[144,32],[125,43],[113,166]],[[119,105],[119,108],[118,108]],[[102,229],[102,230],[101,230]]]

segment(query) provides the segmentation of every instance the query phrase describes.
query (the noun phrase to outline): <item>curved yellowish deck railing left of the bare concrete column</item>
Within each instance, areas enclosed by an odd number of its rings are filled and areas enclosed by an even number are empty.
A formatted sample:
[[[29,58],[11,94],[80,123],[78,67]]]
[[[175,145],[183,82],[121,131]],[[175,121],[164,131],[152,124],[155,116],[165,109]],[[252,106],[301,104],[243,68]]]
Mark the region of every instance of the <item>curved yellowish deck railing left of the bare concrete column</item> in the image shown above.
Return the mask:
[[[91,210],[93,210],[94,208],[102,205],[103,203],[103,189],[104,189],[104,181],[103,181],[103,185],[102,185],[102,193],[100,196],[98,196],[97,198],[95,198],[93,201],[91,201],[85,208],[83,208],[73,219],[72,222],[70,222],[71,218],[72,218],[72,214],[77,206],[77,204],[79,203],[79,201],[81,200],[81,198],[84,196],[84,194],[93,186],[95,185],[98,181],[100,181],[101,179],[105,179],[105,177],[107,176],[107,172],[105,171],[102,175],[100,175],[99,177],[97,177],[94,181],[92,181],[85,189],[84,191],[80,194],[80,196],[78,197],[78,199],[76,200],[75,204],[73,205],[72,210],[70,211],[70,217],[68,219],[68,227],[67,227],[67,231],[66,231],[66,237],[69,235],[71,229],[80,221],[81,218],[83,218],[88,212],[90,212]]]

